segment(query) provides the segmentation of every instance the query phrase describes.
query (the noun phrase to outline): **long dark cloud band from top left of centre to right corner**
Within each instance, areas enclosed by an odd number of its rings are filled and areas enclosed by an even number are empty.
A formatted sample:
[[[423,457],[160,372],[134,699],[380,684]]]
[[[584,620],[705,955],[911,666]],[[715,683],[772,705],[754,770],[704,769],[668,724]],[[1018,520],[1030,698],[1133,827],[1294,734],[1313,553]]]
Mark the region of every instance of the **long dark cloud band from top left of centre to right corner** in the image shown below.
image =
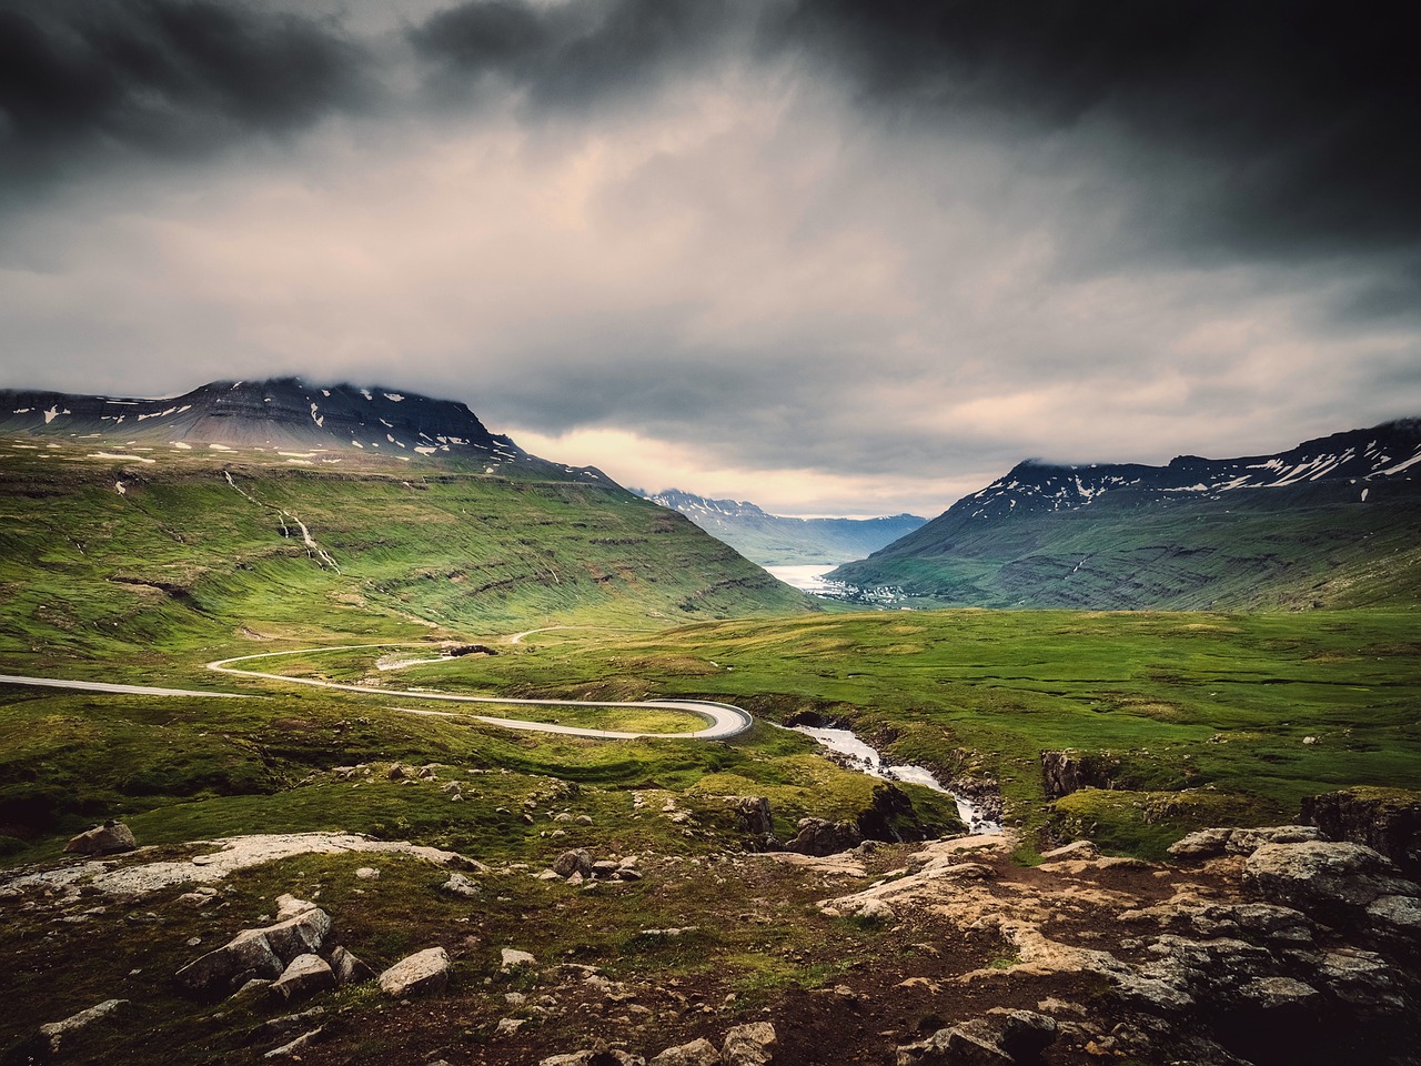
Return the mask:
[[[443,91],[492,78],[544,107],[630,98],[733,48],[806,58],[897,121],[1098,138],[1147,185],[1134,227],[1195,254],[1421,239],[1421,78],[1376,4],[473,0],[411,40]]]

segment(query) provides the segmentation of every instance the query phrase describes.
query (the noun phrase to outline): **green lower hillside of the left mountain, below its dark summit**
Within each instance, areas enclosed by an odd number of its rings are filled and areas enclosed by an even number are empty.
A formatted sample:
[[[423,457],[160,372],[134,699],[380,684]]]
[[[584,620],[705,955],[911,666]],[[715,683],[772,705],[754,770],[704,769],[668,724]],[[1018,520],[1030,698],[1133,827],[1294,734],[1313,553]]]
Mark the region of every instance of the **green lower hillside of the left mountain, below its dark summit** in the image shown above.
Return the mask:
[[[270,638],[476,637],[593,617],[661,627],[807,608],[615,485],[558,480],[550,465],[503,469],[0,443],[0,662],[108,675]]]

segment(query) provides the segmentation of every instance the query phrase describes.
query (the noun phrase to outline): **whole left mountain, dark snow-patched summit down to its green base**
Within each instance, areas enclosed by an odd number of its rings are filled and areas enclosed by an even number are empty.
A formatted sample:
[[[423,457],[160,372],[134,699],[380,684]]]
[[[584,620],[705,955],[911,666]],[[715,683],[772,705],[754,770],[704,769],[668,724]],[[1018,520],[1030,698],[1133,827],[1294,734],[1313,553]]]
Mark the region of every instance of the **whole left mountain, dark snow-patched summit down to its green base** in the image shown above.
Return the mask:
[[[0,411],[0,658],[372,617],[476,635],[809,605],[462,404],[287,378],[163,401],[11,391]]]

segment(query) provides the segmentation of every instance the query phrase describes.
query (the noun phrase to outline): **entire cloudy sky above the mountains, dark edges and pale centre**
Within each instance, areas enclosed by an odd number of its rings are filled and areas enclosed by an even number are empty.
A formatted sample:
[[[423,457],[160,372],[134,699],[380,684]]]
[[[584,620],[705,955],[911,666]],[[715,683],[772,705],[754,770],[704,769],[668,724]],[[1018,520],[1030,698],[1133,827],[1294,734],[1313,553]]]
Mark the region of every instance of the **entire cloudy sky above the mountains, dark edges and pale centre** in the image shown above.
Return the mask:
[[[1391,10],[0,0],[0,387],[384,384],[787,515],[1417,416]]]

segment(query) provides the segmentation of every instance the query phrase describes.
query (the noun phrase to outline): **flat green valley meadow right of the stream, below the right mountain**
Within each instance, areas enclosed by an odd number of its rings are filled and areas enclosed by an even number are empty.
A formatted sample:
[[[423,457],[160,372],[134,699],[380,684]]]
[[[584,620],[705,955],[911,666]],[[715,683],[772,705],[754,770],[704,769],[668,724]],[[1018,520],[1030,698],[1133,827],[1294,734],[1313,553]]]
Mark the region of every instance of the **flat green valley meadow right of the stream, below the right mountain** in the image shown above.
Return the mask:
[[[880,613],[561,640],[561,654],[428,677],[527,692],[571,678],[578,691],[705,695],[780,721],[816,711],[853,721],[901,762],[998,776],[1027,827],[1056,817],[1154,854],[1198,824],[1293,819],[1316,792],[1421,785],[1421,623],[1410,611]],[[1066,748],[1108,750],[1127,807],[1053,812],[1040,752]],[[1182,789],[1198,792],[1151,795]]]

